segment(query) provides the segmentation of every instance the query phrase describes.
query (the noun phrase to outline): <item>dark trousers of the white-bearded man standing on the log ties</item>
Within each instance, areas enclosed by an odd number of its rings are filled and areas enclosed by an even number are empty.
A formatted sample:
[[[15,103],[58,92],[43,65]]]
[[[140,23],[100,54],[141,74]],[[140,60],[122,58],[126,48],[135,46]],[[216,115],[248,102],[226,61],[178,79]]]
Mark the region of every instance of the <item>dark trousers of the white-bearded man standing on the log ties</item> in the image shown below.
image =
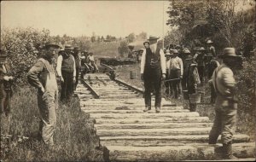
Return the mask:
[[[151,87],[154,88],[155,101],[154,107],[161,106],[161,69],[160,68],[147,68],[143,74],[144,87],[145,87],[145,105],[151,107]]]

